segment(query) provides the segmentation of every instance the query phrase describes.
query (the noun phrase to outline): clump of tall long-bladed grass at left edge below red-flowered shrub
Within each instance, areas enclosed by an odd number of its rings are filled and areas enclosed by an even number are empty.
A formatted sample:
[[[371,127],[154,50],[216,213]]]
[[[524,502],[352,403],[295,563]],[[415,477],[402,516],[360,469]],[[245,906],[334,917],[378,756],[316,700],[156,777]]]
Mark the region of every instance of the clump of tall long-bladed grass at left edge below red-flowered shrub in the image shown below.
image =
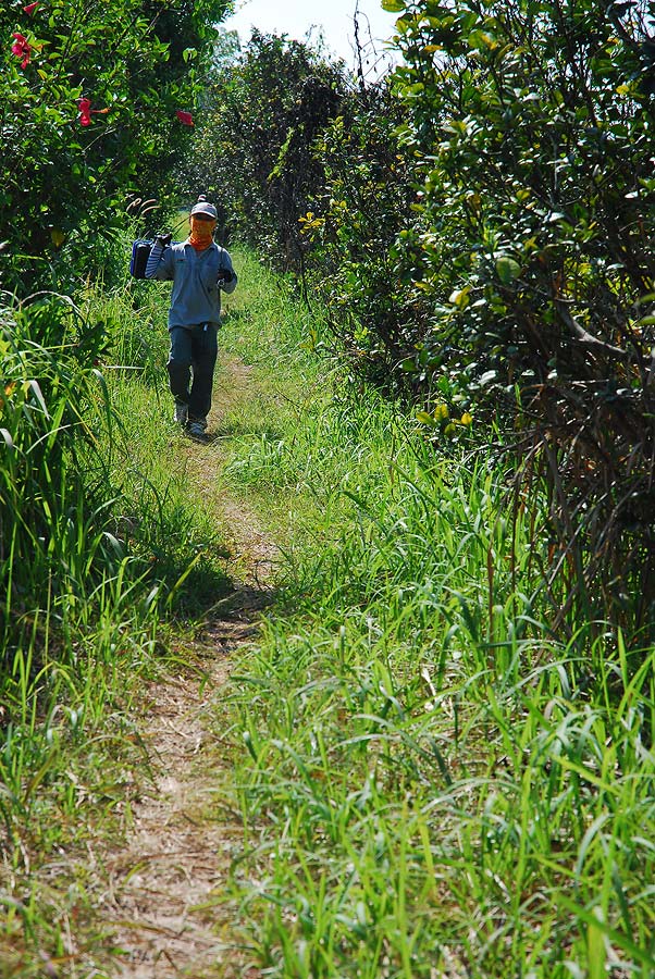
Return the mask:
[[[115,418],[95,365],[102,340],[92,333],[61,297],[4,311],[0,561],[8,685],[14,677],[30,682],[51,654],[73,661],[70,640],[89,628],[89,609],[135,605],[131,590],[145,571],[112,533],[116,493],[100,437],[112,437]],[[102,658],[102,645],[96,648]],[[34,658],[32,669],[16,667],[20,655]]]

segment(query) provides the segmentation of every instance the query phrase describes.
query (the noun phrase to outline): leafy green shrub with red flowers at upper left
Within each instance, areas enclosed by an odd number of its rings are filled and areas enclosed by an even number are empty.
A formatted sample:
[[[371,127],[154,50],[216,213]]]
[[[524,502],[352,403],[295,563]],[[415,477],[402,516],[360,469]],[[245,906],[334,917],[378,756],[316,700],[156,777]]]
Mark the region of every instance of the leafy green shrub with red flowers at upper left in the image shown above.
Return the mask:
[[[0,10],[2,285],[71,292],[111,255],[131,195],[165,201],[227,0],[49,0]],[[16,35],[18,37],[16,38]],[[89,113],[81,111],[89,101]],[[88,125],[84,125],[88,120]]]

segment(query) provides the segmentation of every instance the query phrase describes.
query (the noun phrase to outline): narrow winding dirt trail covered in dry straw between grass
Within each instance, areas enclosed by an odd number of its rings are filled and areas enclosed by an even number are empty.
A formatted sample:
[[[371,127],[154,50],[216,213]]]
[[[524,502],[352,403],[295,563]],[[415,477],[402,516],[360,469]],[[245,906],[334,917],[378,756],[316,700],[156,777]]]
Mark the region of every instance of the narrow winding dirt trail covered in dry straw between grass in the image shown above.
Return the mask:
[[[249,371],[223,360],[210,431],[221,432],[227,402],[247,398]],[[212,894],[225,884],[233,846],[240,841],[238,814],[221,802],[228,771],[221,757],[212,704],[231,669],[231,657],[257,632],[270,595],[274,545],[256,516],[218,493],[221,441],[207,446],[176,441],[190,482],[232,536],[236,591],[196,636],[194,659],[205,676],[169,676],[147,691],[140,736],[155,770],[155,785],[133,804],[122,848],[107,859],[104,924],[115,931],[115,976],[121,979],[255,979],[259,971],[234,945],[230,922],[217,924]]]

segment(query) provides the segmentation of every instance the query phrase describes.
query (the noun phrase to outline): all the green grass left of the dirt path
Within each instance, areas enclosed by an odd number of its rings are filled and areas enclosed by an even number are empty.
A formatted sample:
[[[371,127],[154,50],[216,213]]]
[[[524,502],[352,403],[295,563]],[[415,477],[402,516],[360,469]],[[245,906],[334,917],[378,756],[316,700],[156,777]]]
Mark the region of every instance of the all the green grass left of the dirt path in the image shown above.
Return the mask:
[[[171,622],[226,587],[224,547],[170,466],[171,424],[152,420],[157,345],[128,288],[94,302],[0,311],[2,976],[41,975],[41,954],[77,975],[66,931],[90,899],[74,854],[140,764],[135,683]],[[53,854],[59,873],[37,879]]]

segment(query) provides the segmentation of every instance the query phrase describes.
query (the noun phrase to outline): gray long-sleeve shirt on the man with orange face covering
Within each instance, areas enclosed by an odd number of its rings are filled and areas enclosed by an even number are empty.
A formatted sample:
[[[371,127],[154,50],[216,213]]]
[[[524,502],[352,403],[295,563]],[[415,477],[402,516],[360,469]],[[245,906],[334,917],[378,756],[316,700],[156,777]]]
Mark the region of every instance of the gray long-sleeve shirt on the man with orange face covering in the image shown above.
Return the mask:
[[[232,280],[219,286],[222,270],[232,273]],[[153,245],[146,278],[173,280],[169,329],[195,326],[198,323],[221,323],[221,289],[234,293],[236,273],[230,253],[215,243],[202,251],[196,251],[188,241],[180,241],[162,248]]]

